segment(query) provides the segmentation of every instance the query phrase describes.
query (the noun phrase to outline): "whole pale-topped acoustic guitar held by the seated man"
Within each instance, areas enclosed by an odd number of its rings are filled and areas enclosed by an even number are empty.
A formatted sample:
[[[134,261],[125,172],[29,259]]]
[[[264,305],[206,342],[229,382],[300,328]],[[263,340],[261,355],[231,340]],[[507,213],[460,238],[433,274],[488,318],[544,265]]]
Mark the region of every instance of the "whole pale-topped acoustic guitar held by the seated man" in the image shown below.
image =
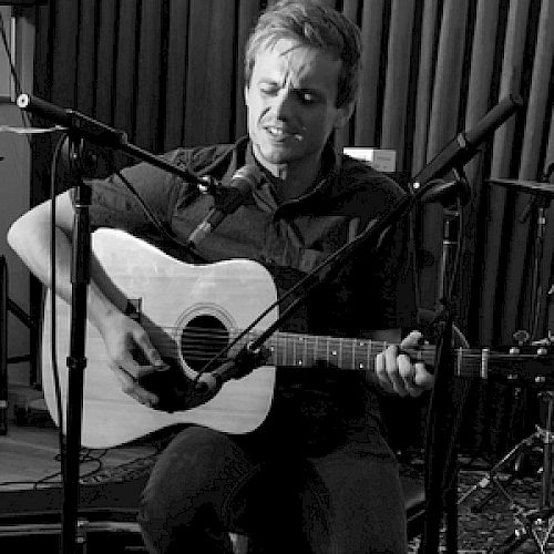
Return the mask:
[[[126,299],[121,306],[136,317],[154,346],[183,381],[196,390],[206,363],[220,349],[242,335],[277,298],[270,274],[260,264],[232,259],[207,265],[189,265],[121,230],[99,229],[92,235],[92,249],[112,283]],[[42,334],[42,384],[48,410],[59,424],[54,363],[59,373],[63,413],[66,410],[71,308],[52,295],[44,300]],[[229,357],[267,329],[278,314],[269,311],[230,349]],[[53,319],[53,325],[52,325]],[[51,339],[55,329],[57,352]],[[111,448],[142,438],[176,423],[198,423],[228,433],[256,429],[269,412],[275,367],[296,367],[317,371],[316,360],[345,370],[371,371],[375,357],[387,343],[350,339],[276,332],[266,341],[264,365],[238,379],[227,380],[205,401],[192,408],[166,412],[146,407],[125,394],[109,368],[102,337],[90,322],[86,328],[86,367],[84,370],[82,444]],[[425,346],[422,359],[433,363],[435,349]],[[543,348],[531,352],[488,348],[459,348],[454,352],[456,376],[497,375],[509,382],[552,384],[551,358]],[[208,373],[207,373],[208,375]],[[202,396],[202,394],[201,394]],[[197,404],[197,406],[194,406]],[[63,418],[65,419],[65,418]]]

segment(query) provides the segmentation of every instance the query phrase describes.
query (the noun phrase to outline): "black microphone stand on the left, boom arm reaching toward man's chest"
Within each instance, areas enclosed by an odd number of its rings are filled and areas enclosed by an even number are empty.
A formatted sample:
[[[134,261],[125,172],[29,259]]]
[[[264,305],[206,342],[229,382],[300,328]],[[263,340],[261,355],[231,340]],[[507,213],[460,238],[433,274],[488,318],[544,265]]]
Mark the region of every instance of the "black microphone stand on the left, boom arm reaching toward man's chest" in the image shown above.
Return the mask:
[[[63,511],[62,511],[62,541],[61,552],[72,554],[85,551],[85,525],[80,525],[79,517],[79,478],[81,451],[81,430],[83,416],[83,384],[86,368],[85,336],[86,336],[86,301],[90,284],[91,258],[91,228],[90,202],[91,188],[84,184],[85,170],[90,172],[83,157],[83,140],[89,140],[101,146],[110,146],[132,154],[144,162],[174,173],[187,182],[195,183],[201,191],[212,184],[209,179],[199,177],[188,170],[176,167],[162,157],[143,151],[126,140],[125,133],[109,127],[86,115],[73,110],[64,110],[44,100],[21,94],[18,106],[39,116],[58,123],[61,129],[68,130],[69,137],[69,168],[70,186],[75,191],[74,224],[71,256],[71,335],[70,351],[66,358],[68,390],[66,390],[66,424],[65,424],[65,456],[62,456],[63,474]]]

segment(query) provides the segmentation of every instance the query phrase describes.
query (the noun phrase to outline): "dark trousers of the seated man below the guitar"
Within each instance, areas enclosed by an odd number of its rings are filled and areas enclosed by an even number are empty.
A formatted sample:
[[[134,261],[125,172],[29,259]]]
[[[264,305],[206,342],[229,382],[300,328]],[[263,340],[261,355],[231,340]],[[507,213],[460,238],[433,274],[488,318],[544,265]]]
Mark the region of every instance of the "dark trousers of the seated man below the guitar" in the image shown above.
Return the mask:
[[[247,534],[256,553],[406,554],[391,455],[356,443],[305,459],[283,444],[264,454],[247,445],[202,427],[175,437],[141,502],[152,554],[230,553],[229,531]]]

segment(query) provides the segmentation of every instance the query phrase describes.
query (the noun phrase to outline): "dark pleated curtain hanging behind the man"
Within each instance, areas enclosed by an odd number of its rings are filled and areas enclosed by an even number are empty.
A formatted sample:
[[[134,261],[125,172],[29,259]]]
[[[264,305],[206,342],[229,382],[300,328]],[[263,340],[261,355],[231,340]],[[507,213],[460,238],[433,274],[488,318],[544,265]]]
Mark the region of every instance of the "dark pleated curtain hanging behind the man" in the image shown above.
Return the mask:
[[[499,101],[511,93],[523,99],[524,106],[465,166],[471,199],[462,214],[455,324],[471,346],[494,348],[512,343],[514,331],[531,329],[531,315],[538,307],[535,338],[546,336],[554,208],[548,202],[540,264],[543,288],[534,304],[535,206],[522,217],[533,197],[486,179],[538,181],[554,162],[554,2],[326,3],[356,21],[365,41],[357,110],[336,135],[338,147],[392,148],[397,170],[410,179]],[[33,16],[33,93],[124,130],[130,142],[153,153],[232,142],[246,132],[243,50],[265,4],[50,0]],[[51,136],[33,138],[30,205],[48,196],[53,146]],[[115,155],[117,165],[129,162]],[[427,309],[437,306],[443,216],[439,204],[412,214],[418,298]],[[35,311],[35,283],[30,298]],[[496,455],[533,429],[533,390],[475,383],[472,392],[462,432],[466,448]],[[420,402],[412,404],[410,410],[419,410]],[[412,431],[417,437],[418,430]]]

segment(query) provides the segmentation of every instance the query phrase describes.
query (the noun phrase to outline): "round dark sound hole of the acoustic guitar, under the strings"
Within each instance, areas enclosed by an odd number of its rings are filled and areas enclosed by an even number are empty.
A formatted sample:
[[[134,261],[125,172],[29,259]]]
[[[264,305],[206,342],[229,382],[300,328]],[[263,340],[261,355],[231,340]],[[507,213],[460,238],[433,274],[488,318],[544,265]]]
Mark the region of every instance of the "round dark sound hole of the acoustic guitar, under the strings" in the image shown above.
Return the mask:
[[[199,371],[228,343],[226,327],[216,317],[197,316],[188,322],[181,336],[181,355],[186,365]]]

